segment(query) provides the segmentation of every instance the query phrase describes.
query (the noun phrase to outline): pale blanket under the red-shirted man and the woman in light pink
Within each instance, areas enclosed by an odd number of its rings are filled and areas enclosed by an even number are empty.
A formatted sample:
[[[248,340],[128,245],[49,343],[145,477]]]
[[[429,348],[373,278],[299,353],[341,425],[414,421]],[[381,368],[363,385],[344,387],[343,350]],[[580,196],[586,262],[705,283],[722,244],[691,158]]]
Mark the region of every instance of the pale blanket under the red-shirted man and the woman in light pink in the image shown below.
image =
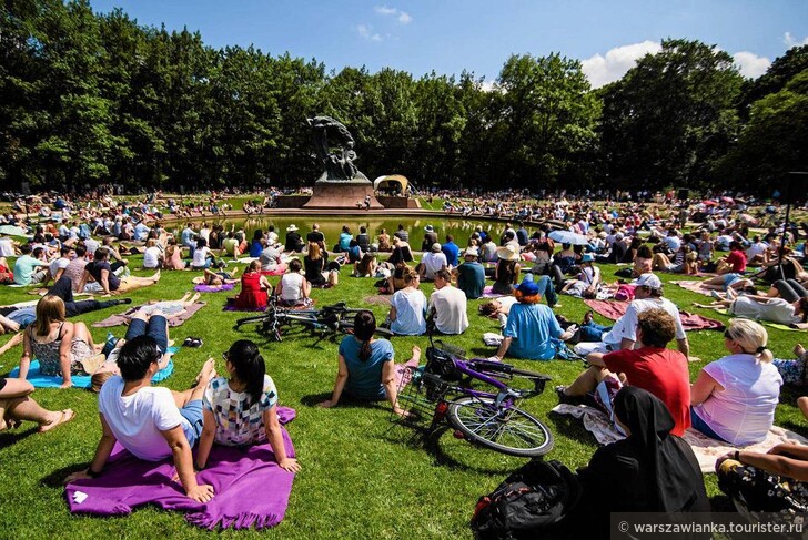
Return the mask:
[[[584,428],[595,436],[595,439],[599,445],[608,445],[623,439],[623,435],[618,434],[612,427],[612,422],[606,414],[595,407],[560,404],[556,405],[552,411],[557,415],[570,415],[575,418],[582,418],[584,421]],[[683,439],[685,439],[693,448],[693,452],[696,455],[698,465],[704,473],[715,472],[716,460],[725,454],[738,449],[765,454],[771,447],[782,442],[808,445],[808,439],[805,439],[794,431],[789,431],[788,429],[779,426],[771,426],[771,429],[769,429],[769,432],[766,435],[766,439],[761,442],[746,447],[734,447],[728,442],[710,439],[706,435],[696,431],[693,428],[685,431]]]

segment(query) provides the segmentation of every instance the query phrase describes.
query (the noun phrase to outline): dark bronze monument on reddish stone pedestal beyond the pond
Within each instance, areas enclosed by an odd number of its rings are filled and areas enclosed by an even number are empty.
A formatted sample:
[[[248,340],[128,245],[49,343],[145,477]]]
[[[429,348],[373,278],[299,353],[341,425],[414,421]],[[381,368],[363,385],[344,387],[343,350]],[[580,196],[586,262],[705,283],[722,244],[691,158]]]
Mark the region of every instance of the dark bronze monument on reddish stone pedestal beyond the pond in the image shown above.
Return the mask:
[[[356,208],[370,196],[371,208],[383,208],[373,194],[373,184],[354,164],[354,139],[331,116],[307,119],[314,136],[314,151],[323,173],[314,183],[314,194],[304,208]]]

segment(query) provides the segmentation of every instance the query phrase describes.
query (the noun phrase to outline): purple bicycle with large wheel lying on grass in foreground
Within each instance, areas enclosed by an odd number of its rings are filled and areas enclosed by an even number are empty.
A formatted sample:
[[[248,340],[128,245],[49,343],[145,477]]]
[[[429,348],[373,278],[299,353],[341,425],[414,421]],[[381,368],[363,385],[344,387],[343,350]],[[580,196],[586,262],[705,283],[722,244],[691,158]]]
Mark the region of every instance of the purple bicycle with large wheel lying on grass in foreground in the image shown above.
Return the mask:
[[[438,346],[436,346],[436,344]],[[541,420],[518,407],[544,391],[551,377],[487,359],[465,359],[465,353],[442,342],[426,350],[426,365],[406,368],[397,395],[405,410],[401,421],[426,424],[427,435],[445,420],[464,439],[492,450],[519,457],[544,456],[553,449],[553,434]],[[533,388],[505,381],[525,379]],[[475,389],[478,381],[496,391]]]

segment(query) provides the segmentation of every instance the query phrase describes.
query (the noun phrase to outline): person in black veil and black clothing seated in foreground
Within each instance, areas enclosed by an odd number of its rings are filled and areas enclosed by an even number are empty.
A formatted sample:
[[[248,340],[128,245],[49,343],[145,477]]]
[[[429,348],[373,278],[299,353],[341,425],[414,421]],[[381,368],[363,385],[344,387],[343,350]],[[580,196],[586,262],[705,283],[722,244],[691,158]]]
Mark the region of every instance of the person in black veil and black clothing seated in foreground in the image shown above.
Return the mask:
[[[578,469],[582,500],[568,522],[575,538],[596,538],[610,512],[709,512],[704,477],[690,446],[671,432],[664,403],[634,386],[614,400],[615,421],[627,437],[598,448]]]

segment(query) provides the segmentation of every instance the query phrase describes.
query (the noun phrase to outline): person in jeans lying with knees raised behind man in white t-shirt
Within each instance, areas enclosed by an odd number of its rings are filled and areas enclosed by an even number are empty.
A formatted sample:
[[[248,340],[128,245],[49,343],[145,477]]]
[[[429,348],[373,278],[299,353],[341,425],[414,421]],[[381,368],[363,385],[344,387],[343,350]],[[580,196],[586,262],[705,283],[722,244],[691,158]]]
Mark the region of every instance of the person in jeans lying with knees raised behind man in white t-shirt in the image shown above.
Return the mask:
[[[92,391],[101,391],[101,387],[109,378],[114,375],[121,375],[118,367],[118,357],[121,354],[121,347],[138,336],[149,336],[158,344],[158,348],[163,355],[158,360],[158,371],[165,369],[171,360],[172,354],[169,353],[169,317],[161,309],[147,309],[141,307],[129,320],[127,335],[123,339],[117,339],[112,350],[110,350],[107,359],[92,374],[90,387]],[[111,342],[108,342],[108,345]]]

